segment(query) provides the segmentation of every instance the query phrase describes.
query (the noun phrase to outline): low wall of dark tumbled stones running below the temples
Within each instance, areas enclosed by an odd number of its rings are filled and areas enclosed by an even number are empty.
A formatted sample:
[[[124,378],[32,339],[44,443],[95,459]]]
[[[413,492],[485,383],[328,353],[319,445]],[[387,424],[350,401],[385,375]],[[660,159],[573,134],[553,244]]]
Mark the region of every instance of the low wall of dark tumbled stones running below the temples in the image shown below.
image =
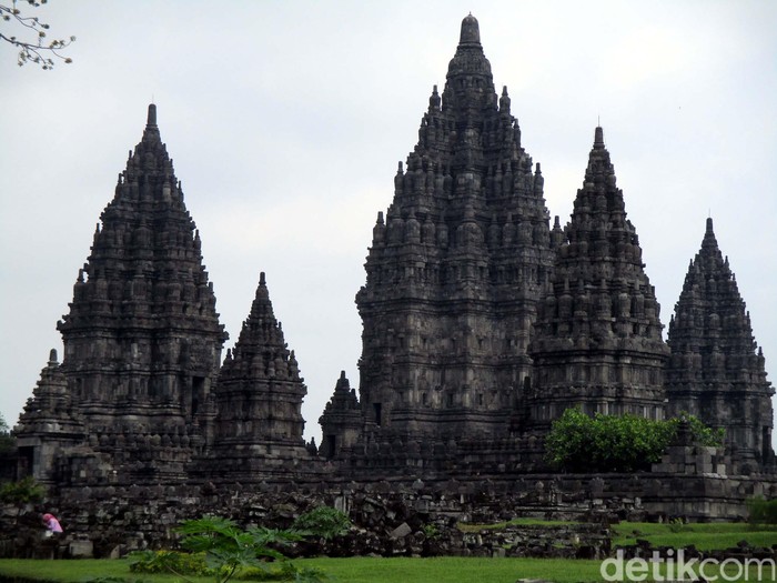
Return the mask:
[[[0,552],[31,555],[53,512],[65,529],[59,554],[119,556],[137,549],[171,547],[183,520],[215,514],[243,525],[287,527],[302,512],[330,505],[354,523],[349,536],[303,545],[307,554],[602,556],[608,539],[602,527],[620,520],[743,520],[751,495],[777,495],[774,481],[676,474],[535,474],[517,479],[454,480],[438,483],[205,484],[202,486],[63,487],[47,505],[22,516],[0,516],[0,532],[14,533]],[[582,521],[587,527],[511,527],[463,533],[457,524],[492,524],[515,517]],[[23,520],[22,520],[23,519]],[[23,521],[27,521],[26,523]],[[22,523],[14,526],[12,523]],[[599,526],[601,525],[601,526]],[[569,530],[571,529],[571,530]],[[40,546],[40,545],[38,545]],[[4,549],[4,551],[3,551]],[[46,551],[49,552],[49,551]]]

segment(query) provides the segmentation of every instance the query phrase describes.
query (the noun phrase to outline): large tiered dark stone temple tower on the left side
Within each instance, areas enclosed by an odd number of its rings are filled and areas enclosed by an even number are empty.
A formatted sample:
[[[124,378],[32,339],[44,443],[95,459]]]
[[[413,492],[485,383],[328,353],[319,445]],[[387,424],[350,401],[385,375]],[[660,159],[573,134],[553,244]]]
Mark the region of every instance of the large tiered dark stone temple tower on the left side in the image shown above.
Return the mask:
[[[210,438],[211,389],[228,335],[153,104],[100,219],[70,311],[58,323],[63,362],[50,362],[42,379],[46,386],[65,384],[58,391],[67,399],[58,402],[68,411],[51,411],[52,420],[67,415],[88,436],[88,448],[65,453],[58,471],[95,480],[74,466],[79,455],[92,455],[100,472],[119,469],[114,480],[180,480]],[[41,425],[29,421],[40,419],[40,404],[33,399],[22,414],[19,443],[44,479],[56,460],[36,451]]]

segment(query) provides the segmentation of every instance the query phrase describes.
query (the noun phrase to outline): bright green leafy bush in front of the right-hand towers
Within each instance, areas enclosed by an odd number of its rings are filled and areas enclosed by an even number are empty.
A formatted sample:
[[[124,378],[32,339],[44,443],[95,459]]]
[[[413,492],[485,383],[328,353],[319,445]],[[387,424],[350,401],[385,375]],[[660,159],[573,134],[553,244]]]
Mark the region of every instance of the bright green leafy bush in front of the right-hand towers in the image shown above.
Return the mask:
[[[699,445],[723,443],[723,430],[713,430],[693,415],[654,421],[632,414],[592,418],[567,409],[546,438],[547,461],[567,472],[646,471],[660,461],[680,426]]]

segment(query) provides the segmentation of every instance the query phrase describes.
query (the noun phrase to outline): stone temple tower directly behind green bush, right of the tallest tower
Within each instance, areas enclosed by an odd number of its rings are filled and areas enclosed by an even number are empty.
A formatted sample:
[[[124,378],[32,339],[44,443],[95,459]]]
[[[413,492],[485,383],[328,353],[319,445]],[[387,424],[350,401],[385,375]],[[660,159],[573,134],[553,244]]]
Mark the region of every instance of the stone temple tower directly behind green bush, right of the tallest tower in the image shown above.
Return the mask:
[[[529,348],[528,428],[547,429],[571,406],[663,419],[669,351],[602,128],[565,235]]]

